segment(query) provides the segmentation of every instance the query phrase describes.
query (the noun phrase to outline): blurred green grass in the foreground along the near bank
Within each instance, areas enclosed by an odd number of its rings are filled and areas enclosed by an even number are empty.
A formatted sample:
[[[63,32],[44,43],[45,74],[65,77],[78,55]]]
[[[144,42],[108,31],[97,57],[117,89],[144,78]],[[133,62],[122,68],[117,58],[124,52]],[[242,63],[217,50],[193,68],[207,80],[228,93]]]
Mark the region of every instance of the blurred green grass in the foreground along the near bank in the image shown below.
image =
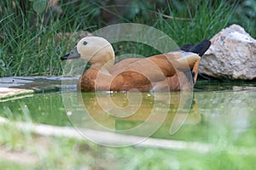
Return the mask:
[[[255,155],[227,150],[200,153],[147,147],[110,148],[87,140],[42,137],[0,125],[0,151],[5,169],[254,169]],[[19,159],[14,159],[20,156]],[[12,157],[12,159],[9,159]]]

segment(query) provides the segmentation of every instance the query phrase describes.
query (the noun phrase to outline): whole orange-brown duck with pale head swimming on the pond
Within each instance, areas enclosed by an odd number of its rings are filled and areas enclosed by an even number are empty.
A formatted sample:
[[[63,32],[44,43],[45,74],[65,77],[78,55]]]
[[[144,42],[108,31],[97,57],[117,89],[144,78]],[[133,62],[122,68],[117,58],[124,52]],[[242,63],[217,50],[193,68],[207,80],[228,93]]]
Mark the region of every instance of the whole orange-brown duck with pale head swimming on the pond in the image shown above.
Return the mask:
[[[140,91],[166,92],[194,88],[201,56],[211,42],[202,40],[166,54],[129,58],[114,63],[113,46],[103,37],[84,37],[65,59],[84,59],[90,68],[78,81],[81,92]]]

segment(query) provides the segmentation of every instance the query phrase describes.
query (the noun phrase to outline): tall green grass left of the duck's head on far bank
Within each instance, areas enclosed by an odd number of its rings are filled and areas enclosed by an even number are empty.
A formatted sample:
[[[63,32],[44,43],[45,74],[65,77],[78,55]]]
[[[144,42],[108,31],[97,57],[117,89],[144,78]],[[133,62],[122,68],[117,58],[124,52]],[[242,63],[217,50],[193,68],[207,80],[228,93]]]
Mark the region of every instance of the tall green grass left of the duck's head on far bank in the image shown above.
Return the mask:
[[[15,4],[15,7],[14,7]],[[61,54],[76,40],[58,36],[60,32],[87,29],[90,5],[61,4],[61,13],[47,7],[38,14],[32,5],[26,12],[18,0],[1,3],[0,20],[0,77],[60,75]]]

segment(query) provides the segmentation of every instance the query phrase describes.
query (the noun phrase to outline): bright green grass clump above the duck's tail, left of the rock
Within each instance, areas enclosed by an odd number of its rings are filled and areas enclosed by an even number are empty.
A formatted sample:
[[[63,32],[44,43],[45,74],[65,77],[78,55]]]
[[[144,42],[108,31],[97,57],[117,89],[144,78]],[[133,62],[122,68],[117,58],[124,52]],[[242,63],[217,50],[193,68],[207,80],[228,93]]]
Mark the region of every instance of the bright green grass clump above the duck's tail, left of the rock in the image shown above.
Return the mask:
[[[210,39],[218,31],[229,26],[236,11],[236,3],[230,5],[225,1],[213,4],[211,1],[195,1],[193,6],[186,3],[183,14],[177,13],[176,9],[170,6],[167,10],[173,17],[167,20],[159,17],[155,26],[165,31],[181,46],[200,42],[204,38]]]

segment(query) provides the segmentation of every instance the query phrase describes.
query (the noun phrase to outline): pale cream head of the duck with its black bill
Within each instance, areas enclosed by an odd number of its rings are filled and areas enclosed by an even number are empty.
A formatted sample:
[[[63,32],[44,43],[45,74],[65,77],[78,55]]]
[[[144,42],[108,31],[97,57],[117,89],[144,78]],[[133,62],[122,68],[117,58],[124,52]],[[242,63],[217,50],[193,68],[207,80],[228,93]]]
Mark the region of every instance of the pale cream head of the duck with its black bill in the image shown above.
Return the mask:
[[[113,47],[102,37],[84,37],[73,48],[73,51],[62,56],[61,60],[78,58],[88,61],[94,67],[112,66],[114,62]]]

